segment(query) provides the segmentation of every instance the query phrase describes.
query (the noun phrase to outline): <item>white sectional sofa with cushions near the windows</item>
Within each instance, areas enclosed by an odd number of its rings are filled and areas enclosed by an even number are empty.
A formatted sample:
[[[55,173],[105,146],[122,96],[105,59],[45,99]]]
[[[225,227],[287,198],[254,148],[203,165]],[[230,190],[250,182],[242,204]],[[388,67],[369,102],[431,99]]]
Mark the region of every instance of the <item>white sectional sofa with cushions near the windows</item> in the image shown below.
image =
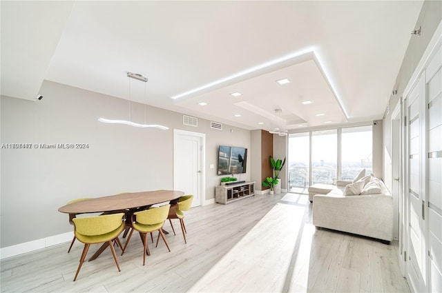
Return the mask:
[[[372,175],[359,178],[347,185],[311,186],[312,193],[323,189],[323,194],[316,193],[311,199],[313,225],[390,243],[393,239],[392,195],[380,179]]]

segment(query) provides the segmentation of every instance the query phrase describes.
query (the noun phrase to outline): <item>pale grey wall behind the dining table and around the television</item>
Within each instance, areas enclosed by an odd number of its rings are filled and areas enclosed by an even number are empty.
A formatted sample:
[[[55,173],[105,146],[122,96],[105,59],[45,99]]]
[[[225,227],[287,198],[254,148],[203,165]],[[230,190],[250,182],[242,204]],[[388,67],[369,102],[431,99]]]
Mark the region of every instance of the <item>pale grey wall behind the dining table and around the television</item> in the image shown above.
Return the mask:
[[[8,247],[72,231],[58,208],[79,197],[173,189],[173,128],[206,133],[206,200],[214,198],[218,145],[251,146],[251,134],[230,125],[182,125],[182,114],[146,107],[146,122],[169,130],[97,121],[128,119],[128,101],[44,81],[44,99],[1,97],[1,143],[88,143],[86,149],[1,149],[1,243]],[[131,103],[131,121],[144,105]],[[233,130],[233,132],[231,132]],[[215,165],[210,169],[209,165]],[[247,161],[250,179],[253,168]],[[31,228],[32,227],[32,228]]]

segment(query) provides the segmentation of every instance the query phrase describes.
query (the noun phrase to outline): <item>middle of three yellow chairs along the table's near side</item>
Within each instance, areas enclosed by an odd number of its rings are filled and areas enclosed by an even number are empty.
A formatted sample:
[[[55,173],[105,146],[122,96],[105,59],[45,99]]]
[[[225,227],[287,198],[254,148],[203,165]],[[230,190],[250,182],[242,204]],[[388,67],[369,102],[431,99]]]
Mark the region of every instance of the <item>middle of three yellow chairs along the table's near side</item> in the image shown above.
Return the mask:
[[[169,208],[171,208],[171,205],[162,205],[159,208],[149,208],[148,210],[134,212],[131,221],[126,221],[126,225],[130,225],[132,229],[127,237],[126,243],[124,244],[122,255],[124,254],[124,251],[131,240],[133,230],[137,230],[140,232],[140,234],[142,234],[142,241],[144,243],[143,265],[146,263],[146,251],[149,255],[151,254],[147,245],[147,234],[149,233],[158,231],[157,245],[155,245],[155,247],[158,246],[158,241],[160,240],[161,235],[164,243],[166,243],[167,249],[169,252],[171,252],[169,244],[167,244],[164,233],[162,232],[162,227],[167,219],[167,215],[169,214]]]

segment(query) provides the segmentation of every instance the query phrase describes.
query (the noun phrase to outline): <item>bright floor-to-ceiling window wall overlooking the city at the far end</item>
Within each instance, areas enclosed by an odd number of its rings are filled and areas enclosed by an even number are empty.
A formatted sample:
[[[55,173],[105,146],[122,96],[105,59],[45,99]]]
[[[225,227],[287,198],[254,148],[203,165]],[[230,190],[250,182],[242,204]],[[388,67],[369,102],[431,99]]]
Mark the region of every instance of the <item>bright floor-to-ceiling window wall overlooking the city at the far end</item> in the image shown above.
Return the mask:
[[[289,191],[372,173],[372,125],[289,134]]]

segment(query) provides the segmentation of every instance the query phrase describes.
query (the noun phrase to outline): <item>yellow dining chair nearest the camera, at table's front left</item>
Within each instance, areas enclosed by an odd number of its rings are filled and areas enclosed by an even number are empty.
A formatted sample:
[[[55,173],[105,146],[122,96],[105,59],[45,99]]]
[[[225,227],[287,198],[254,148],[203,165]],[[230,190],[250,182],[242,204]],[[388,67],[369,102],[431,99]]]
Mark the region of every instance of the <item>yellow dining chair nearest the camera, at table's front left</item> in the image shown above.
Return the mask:
[[[75,237],[77,237],[78,241],[84,243],[83,254],[81,254],[80,264],[78,265],[74,281],[77,279],[81,265],[83,265],[84,259],[86,258],[86,254],[88,254],[90,244],[107,242],[109,247],[111,247],[113,259],[115,259],[115,263],[118,267],[118,272],[120,272],[121,270],[119,269],[117,255],[115,254],[112,241],[115,239],[119,247],[122,247],[118,236],[124,230],[124,213],[75,218],[73,219],[73,222],[75,226]]]

